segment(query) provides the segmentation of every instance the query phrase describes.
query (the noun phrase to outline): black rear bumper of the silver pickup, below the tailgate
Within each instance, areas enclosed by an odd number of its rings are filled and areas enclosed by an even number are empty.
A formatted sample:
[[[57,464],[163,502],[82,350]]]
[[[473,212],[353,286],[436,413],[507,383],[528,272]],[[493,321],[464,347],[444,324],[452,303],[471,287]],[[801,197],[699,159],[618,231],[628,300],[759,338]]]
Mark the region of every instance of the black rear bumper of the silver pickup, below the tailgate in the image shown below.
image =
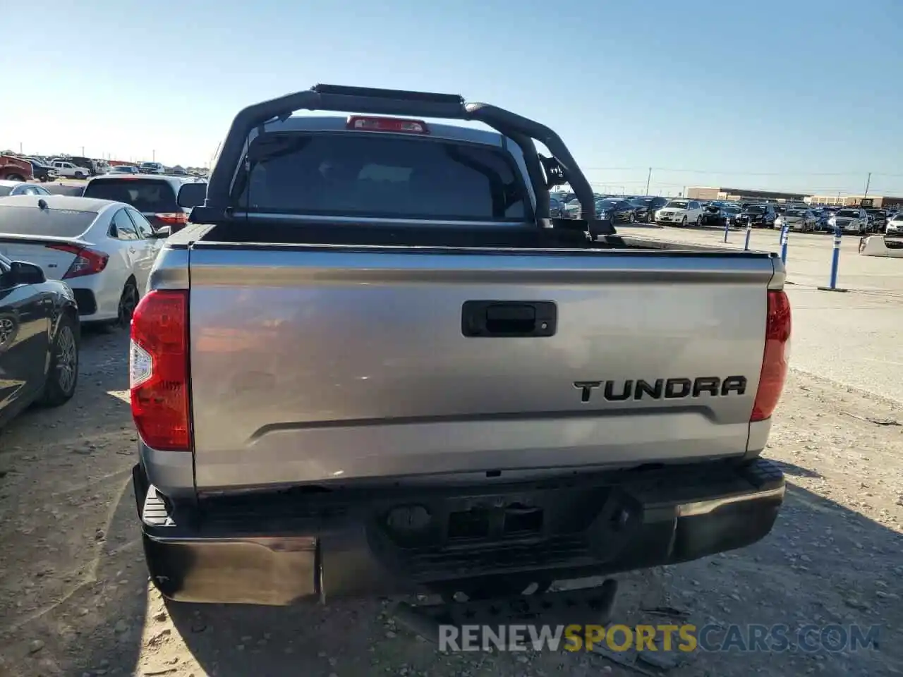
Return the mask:
[[[695,560],[767,535],[785,492],[780,469],[765,459],[504,487],[261,494],[175,506],[148,485],[140,465],[133,476],[144,554],[165,597],[265,605]],[[389,527],[386,515],[400,505],[431,515],[419,535]],[[422,515],[408,510],[396,524]]]

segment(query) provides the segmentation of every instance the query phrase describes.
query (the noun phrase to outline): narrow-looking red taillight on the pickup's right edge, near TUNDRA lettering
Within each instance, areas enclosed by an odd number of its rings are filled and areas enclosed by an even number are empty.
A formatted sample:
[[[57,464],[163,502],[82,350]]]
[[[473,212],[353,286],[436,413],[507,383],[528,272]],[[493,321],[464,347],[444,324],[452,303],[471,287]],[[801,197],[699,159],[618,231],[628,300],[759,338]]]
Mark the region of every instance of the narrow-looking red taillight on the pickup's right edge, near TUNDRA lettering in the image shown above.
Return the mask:
[[[787,378],[790,358],[790,300],[784,291],[768,292],[768,320],[765,329],[765,351],[762,355],[762,373],[759,390],[752,405],[750,422],[765,421],[777,407]]]

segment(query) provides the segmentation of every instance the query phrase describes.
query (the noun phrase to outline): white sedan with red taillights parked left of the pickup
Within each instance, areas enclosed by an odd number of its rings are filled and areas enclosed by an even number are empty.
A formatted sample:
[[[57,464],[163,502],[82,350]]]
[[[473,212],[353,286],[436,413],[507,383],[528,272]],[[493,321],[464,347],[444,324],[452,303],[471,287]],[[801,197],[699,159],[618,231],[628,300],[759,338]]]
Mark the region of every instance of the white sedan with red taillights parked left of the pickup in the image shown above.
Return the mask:
[[[82,322],[127,326],[165,229],[107,199],[21,195],[0,199],[0,254],[40,265],[75,292]]]

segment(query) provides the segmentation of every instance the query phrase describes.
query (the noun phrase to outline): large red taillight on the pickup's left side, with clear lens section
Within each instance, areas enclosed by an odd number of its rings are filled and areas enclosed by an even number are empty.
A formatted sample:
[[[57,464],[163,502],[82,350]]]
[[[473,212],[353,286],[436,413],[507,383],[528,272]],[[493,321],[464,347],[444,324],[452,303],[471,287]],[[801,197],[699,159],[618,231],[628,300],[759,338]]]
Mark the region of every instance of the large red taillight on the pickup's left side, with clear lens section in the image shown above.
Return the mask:
[[[188,409],[188,292],[148,292],[132,315],[129,388],[144,443],[191,451]]]

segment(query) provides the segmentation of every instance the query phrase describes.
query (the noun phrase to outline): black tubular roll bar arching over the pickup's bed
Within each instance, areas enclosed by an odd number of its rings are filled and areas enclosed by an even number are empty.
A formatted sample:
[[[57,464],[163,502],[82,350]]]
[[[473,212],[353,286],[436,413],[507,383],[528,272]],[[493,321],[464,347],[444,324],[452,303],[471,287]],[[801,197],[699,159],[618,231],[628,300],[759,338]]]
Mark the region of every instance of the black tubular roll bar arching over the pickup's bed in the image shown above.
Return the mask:
[[[241,110],[229,127],[226,140],[207,188],[205,211],[228,209],[229,191],[238,162],[241,162],[248,136],[258,126],[274,119],[285,120],[296,110],[326,110],[368,115],[437,117],[450,120],[475,120],[489,125],[514,141],[524,153],[527,174],[533,184],[537,213],[548,216],[548,190],[557,182],[568,183],[580,200],[580,219],[593,235],[613,235],[609,221],[597,221],[595,197],[590,182],[577,166],[561,137],[545,125],[518,116],[504,108],[483,103],[467,103],[457,94],[434,94],[402,89],[314,85],[312,88],[262,101]],[[536,152],[533,140],[545,145],[553,159]],[[544,179],[540,167],[544,167]],[[559,174],[554,181],[553,176]],[[572,224],[575,226],[577,224]]]

